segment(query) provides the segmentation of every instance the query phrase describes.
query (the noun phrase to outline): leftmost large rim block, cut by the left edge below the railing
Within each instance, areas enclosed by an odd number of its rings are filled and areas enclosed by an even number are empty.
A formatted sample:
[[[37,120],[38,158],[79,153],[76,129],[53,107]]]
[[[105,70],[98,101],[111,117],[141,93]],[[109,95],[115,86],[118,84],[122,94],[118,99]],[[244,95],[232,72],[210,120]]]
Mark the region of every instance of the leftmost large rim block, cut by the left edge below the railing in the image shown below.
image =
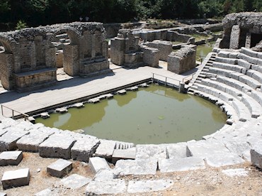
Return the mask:
[[[0,151],[16,150],[16,141],[26,134],[29,134],[28,131],[24,131],[22,128],[16,128],[15,126],[8,127],[6,130],[8,132],[0,137]]]

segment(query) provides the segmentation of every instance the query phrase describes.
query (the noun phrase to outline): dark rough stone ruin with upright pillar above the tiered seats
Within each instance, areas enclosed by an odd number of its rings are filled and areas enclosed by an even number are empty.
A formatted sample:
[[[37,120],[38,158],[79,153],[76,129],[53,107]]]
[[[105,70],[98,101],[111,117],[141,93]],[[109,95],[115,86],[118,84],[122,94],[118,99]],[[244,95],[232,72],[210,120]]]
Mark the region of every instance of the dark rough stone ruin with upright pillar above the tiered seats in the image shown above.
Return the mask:
[[[231,13],[222,20],[224,36],[220,48],[252,48],[262,40],[262,14]]]

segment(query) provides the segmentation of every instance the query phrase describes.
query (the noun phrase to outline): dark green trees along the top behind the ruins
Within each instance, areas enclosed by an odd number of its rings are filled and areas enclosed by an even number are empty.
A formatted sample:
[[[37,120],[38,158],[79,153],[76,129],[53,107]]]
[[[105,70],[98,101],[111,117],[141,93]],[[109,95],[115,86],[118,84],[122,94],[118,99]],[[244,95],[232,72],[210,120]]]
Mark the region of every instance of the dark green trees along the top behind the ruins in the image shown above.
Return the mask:
[[[28,26],[72,21],[127,22],[147,18],[222,18],[262,11],[261,0],[1,0],[1,23]]]

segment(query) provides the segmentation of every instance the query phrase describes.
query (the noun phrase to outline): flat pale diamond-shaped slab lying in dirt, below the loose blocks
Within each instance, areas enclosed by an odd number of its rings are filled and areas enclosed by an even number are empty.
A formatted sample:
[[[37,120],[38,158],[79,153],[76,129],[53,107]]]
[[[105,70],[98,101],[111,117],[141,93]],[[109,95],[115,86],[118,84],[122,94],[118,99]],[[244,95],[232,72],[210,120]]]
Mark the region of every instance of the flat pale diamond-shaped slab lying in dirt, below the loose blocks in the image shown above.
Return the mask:
[[[78,189],[80,187],[83,187],[84,185],[87,185],[90,182],[90,178],[85,178],[84,176],[77,174],[69,175],[67,178],[64,178],[60,181],[62,185],[71,189]]]

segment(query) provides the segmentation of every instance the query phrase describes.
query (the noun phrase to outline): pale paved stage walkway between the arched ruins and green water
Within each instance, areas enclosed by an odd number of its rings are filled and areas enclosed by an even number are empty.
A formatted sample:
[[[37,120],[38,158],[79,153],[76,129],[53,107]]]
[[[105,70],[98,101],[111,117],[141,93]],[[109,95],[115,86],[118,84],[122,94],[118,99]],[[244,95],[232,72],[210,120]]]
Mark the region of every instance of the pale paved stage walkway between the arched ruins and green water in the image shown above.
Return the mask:
[[[167,82],[178,86],[179,81],[192,75],[193,72],[197,70],[191,70],[183,75],[176,75],[166,70],[166,62],[160,62],[159,65],[161,66],[159,68],[146,66],[128,70],[110,65],[112,72],[107,75],[89,78],[74,77],[71,80],[59,81],[57,85],[52,87],[42,88],[32,92],[18,93],[12,91],[2,93],[0,94],[0,104],[26,114],[64,102],[81,99],[82,97],[88,97],[99,92],[130,85],[141,80],[147,80],[152,77],[153,72],[158,74],[155,75],[156,79],[165,81],[165,77],[159,76],[164,75],[175,79],[167,79]],[[11,110],[3,110],[4,116],[11,116]]]

